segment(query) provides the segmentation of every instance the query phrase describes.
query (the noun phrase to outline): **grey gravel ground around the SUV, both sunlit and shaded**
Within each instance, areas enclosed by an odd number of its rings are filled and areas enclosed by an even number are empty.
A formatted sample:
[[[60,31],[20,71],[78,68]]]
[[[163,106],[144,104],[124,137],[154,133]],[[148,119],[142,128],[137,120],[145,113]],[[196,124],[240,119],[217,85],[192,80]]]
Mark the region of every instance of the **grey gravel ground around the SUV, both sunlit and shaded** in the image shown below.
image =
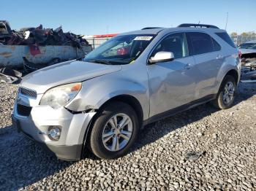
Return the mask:
[[[129,155],[64,162],[16,133],[17,86],[0,84],[0,190],[256,190],[256,84],[236,105],[209,104],[140,132]]]

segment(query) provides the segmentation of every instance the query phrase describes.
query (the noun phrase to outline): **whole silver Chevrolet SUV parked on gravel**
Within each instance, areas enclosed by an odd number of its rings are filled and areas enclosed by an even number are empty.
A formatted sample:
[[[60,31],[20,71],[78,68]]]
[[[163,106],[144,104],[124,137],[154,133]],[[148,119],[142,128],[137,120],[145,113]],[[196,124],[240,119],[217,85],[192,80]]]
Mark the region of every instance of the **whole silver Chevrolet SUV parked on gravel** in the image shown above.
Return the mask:
[[[27,75],[12,122],[63,160],[89,149],[121,157],[143,125],[208,101],[232,106],[240,71],[238,49],[216,26],[143,28]]]

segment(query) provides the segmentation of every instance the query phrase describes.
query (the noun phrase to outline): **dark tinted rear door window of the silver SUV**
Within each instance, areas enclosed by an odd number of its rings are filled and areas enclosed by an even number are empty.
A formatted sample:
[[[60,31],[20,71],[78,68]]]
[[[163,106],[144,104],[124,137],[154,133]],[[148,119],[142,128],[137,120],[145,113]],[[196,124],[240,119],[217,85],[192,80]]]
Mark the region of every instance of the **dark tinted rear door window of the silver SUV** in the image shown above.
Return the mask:
[[[189,42],[189,55],[200,55],[207,52],[220,50],[220,46],[208,34],[204,33],[187,33]]]

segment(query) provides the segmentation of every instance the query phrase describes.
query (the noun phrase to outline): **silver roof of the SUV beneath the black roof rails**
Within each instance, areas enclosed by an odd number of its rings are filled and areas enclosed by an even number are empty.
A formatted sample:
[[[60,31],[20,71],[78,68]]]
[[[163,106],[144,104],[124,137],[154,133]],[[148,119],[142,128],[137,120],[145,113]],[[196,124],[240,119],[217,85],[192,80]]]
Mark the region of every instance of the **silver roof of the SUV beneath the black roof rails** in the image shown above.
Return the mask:
[[[129,34],[159,34],[161,31],[166,32],[176,32],[176,31],[204,31],[204,32],[225,32],[225,30],[219,28],[199,28],[199,27],[175,27],[175,28],[149,28],[142,29],[138,31],[130,31],[127,33],[119,34],[119,35],[129,35]]]

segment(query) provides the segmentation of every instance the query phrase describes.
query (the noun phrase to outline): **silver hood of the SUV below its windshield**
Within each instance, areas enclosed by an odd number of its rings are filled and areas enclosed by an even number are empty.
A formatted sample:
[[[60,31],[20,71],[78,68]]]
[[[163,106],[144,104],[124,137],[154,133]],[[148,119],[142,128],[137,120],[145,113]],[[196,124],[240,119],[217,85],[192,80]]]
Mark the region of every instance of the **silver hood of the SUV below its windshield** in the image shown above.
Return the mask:
[[[23,78],[20,86],[45,93],[51,87],[72,82],[82,82],[120,71],[121,66],[89,63],[83,61],[67,61],[34,71]]]

